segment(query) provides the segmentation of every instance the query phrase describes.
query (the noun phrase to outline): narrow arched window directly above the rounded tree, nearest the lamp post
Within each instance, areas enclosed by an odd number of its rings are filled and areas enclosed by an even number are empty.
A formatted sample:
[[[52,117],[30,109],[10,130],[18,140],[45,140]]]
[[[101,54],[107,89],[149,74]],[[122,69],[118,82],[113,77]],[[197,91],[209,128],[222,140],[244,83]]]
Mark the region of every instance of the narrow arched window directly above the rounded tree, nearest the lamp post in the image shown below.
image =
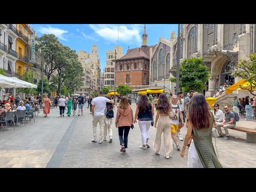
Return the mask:
[[[191,58],[192,54],[197,52],[197,30],[196,26],[192,27],[188,34],[188,54],[187,57]]]

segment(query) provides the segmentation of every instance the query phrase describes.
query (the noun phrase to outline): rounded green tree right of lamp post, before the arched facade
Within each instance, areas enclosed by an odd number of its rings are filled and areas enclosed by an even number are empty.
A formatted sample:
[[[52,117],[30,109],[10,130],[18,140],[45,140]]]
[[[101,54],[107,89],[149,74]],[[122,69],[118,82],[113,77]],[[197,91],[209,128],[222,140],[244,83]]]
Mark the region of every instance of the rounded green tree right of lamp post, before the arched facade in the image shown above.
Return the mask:
[[[202,65],[203,60],[204,58],[189,58],[180,64],[180,88],[183,92],[204,90],[204,83],[207,82],[211,74],[209,68]],[[176,82],[174,77],[169,80],[170,82]]]

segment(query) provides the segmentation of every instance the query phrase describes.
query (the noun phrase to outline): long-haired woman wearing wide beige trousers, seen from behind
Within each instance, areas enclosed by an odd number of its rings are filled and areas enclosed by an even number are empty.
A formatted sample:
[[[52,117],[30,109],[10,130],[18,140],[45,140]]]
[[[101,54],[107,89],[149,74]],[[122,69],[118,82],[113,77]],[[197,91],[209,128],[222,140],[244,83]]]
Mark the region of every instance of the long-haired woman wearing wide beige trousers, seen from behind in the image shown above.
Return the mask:
[[[161,136],[164,134],[164,156],[166,159],[172,154],[172,136],[169,112],[172,112],[172,108],[167,99],[166,94],[161,93],[158,99],[158,104],[156,105],[156,138],[154,141],[154,152],[155,154],[160,154],[161,148]],[[172,115],[170,115],[172,116]],[[159,121],[158,121],[159,119]],[[158,125],[157,125],[158,122]]]

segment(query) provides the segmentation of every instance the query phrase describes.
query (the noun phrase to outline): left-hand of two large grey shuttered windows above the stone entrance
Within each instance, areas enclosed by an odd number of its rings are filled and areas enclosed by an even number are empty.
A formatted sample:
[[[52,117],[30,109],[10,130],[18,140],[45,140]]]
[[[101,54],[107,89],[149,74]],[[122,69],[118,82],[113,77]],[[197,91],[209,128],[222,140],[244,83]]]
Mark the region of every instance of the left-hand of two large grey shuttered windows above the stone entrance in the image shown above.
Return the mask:
[[[210,48],[217,44],[217,24],[203,24],[203,56],[208,53],[208,44]]]

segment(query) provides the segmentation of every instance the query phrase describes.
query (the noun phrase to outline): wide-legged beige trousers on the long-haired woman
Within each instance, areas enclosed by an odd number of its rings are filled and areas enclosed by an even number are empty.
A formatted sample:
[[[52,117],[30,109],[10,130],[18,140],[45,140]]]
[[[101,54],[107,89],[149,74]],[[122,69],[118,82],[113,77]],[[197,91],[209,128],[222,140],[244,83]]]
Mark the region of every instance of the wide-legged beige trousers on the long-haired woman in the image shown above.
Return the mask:
[[[158,125],[156,128],[156,138],[154,141],[154,151],[160,152],[161,148],[161,136],[162,132],[164,135],[164,154],[172,154],[172,136],[171,136],[171,126],[169,116],[160,116],[158,119]]]

